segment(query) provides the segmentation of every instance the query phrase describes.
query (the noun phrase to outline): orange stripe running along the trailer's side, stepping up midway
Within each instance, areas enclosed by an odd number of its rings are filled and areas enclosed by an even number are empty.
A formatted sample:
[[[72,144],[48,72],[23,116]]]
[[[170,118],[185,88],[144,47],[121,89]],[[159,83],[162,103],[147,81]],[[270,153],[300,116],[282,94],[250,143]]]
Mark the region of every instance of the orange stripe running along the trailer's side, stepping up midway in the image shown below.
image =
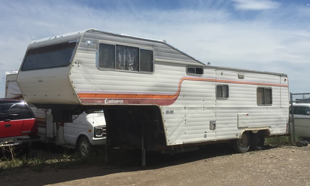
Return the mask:
[[[288,85],[279,85],[279,84],[269,84],[269,83],[252,83],[252,82],[242,82],[242,81],[230,81],[230,80],[215,80],[215,79],[202,79],[202,78],[191,78],[183,77],[179,81],[178,91],[175,94],[133,94],[133,93],[78,93],[80,98],[131,98],[131,99],[173,99],[179,95],[181,92],[181,84],[184,80],[190,81],[209,81],[209,82],[220,82],[220,83],[238,83],[238,84],[247,84],[247,85],[265,85],[265,86],[276,86],[276,87],[288,87]]]

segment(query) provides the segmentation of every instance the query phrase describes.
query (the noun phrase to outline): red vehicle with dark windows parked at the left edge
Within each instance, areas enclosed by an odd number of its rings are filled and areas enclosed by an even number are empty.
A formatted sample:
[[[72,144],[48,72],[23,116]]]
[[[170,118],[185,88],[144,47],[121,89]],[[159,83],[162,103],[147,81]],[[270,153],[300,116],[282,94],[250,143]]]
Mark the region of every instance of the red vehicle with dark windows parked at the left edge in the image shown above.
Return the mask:
[[[34,114],[23,100],[0,98],[0,147],[38,139]]]

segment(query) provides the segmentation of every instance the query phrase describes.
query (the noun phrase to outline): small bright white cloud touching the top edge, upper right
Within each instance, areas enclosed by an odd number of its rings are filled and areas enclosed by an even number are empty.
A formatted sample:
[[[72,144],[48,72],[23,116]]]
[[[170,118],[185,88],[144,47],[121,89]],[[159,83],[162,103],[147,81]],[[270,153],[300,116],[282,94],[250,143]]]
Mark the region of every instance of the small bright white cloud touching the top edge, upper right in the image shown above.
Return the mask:
[[[280,3],[272,0],[233,0],[235,8],[241,10],[265,10],[278,8]]]

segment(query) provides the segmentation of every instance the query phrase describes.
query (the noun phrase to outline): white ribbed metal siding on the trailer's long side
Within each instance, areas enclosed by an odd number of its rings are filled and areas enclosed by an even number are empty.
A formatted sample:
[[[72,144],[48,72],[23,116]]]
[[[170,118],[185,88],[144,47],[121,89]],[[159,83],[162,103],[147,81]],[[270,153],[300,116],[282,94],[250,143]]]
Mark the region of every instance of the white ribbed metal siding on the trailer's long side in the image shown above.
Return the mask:
[[[92,44],[87,46],[85,43],[89,40]],[[95,63],[99,40],[151,47],[157,59],[155,73],[98,70]],[[75,56],[74,62],[78,64],[72,65],[70,80],[73,81],[77,93],[171,95],[178,91],[181,78],[214,80],[185,80],[181,84],[181,91],[176,101],[171,105],[161,106],[167,145],[239,138],[244,130],[244,128],[238,128],[239,113],[248,113],[248,127],[269,127],[271,134],[286,133],[288,88],[264,85],[287,85],[282,82],[280,74],[204,66],[202,77],[188,76],[186,64],[163,62],[165,59],[195,65],[195,62],[187,56],[161,43],[86,32]],[[245,79],[238,79],[238,73],[243,73]],[[227,83],[229,81],[239,83]],[[243,82],[252,84],[242,84]],[[229,86],[227,100],[216,99],[217,84]],[[257,87],[272,87],[273,104],[271,106],[257,105]],[[287,93],[286,96],[282,95],[285,93]],[[217,121],[215,130],[210,130],[210,121]]]

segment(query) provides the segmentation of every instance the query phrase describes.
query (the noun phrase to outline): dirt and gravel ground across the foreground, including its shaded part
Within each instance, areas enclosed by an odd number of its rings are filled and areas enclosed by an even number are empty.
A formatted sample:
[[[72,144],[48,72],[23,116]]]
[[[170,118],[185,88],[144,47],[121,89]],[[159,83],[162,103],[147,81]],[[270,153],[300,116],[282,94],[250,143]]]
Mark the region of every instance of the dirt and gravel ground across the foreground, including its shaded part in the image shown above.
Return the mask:
[[[233,153],[229,146],[217,145],[173,156],[148,154],[146,169],[140,168],[139,155],[123,154],[109,166],[12,172],[0,176],[0,185],[310,185],[310,147]]]

